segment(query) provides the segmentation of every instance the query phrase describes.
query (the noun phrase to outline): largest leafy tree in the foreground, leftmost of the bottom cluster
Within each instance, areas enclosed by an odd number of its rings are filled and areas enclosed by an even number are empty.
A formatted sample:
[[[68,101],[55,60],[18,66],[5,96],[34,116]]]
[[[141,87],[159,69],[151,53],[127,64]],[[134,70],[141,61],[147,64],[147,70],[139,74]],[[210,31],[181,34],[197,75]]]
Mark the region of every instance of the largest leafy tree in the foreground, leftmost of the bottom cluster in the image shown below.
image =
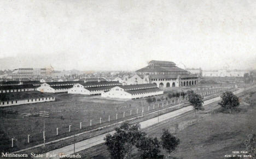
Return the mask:
[[[139,125],[131,125],[128,122],[115,128],[113,135],[107,134],[104,138],[107,149],[113,159],[131,158],[132,146],[146,136],[146,133],[139,131]]]

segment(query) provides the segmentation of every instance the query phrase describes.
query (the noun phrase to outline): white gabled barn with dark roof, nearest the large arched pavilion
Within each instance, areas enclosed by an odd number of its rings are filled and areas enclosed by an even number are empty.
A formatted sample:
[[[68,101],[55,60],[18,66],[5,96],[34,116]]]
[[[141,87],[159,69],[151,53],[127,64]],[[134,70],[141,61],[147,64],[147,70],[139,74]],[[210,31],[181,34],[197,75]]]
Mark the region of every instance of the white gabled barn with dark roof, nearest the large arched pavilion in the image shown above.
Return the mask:
[[[102,97],[112,97],[121,99],[136,99],[140,97],[154,96],[164,94],[164,91],[156,87],[155,84],[135,84],[118,85],[109,91],[104,91]]]

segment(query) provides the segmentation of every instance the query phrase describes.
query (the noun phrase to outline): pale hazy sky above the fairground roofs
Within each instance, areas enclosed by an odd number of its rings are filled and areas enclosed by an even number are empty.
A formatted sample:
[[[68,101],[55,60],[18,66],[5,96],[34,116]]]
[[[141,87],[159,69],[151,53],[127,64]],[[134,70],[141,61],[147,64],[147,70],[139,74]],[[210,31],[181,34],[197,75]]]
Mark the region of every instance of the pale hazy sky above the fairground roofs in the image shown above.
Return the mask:
[[[256,69],[256,1],[0,0],[0,69]]]

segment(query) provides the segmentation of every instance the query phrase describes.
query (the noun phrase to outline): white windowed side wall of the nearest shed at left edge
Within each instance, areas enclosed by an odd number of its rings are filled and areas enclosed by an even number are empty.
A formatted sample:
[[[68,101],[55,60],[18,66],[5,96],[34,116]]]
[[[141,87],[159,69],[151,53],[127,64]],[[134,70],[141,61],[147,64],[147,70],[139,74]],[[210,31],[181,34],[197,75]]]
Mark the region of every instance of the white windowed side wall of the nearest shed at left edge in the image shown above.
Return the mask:
[[[40,99],[40,101],[39,101],[39,99]],[[36,99],[17,100],[17,101],[13,101],[13,103],[11,103],[11,101],[0,101],[0,107],[26,105],[26,104],[30,104],[30,103],[42,103],[42,102],[48,102],[48,101],[55,101],[55,97],[47,97],[47,99],[46,99],[46,97],[40,97],[40,98],[36,98]]]

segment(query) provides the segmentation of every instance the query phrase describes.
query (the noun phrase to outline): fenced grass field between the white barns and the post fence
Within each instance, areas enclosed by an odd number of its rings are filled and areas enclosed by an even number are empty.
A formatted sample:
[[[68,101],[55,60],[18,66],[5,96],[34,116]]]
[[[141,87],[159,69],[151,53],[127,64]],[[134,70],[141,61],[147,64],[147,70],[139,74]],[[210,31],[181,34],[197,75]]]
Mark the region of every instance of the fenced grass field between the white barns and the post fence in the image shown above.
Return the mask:
[[[190,88],[184,87],[182,89],[185,91]],[[161,96],[166,97],[168,93],[178,90],[179,89],[174,88],[172,90],[166,91],[166,93]],[[205,91],[209,90],[200,90],[200,92]],[[161,96],[157,97],[160,98]],[[120,121],[122,119],[140,115],[142,110],[142,99],[106,100],[100,96],[84,96],[66,93],[55,94],[55,97],[56,101],[52,102],[0,108],[0,111],[18,112],[18,114],[2,114],[0,117],[2,121],[0,127],[5,135],[9,138],[9,144],[5,145],[9,147],[9,152],[43,143],[44,121],[46,142],[48,142],[57,138],[70,136],[73,134],[74,129],[76,130],[75,133],[79,133],[86,130],[95,129],[101,125],[106,125],[108,123],[108,115],[110,115],[110,123],[113,123],[117,121],[115,119],[116,114],[118,114],[118,121]],[[171,100],[174,100],[174,98]],[[166,101],[164,102],[166,105]],[[150,106],[150,111],[147,110],[149,104],[146,102],[146,100],[143,100],[143,105],[145,107],[145,113],[153,111],[153,104]],[[155,105],[158,104],[155,103]],[[136,113],[137,109],[138,114]],[[132,110],[132,115],[130,115],[130,110]],[[23,113],[34,114],[38,113],[39,111],[50,112],[50,117],[26,117],[22,115]],[[123,118],[124,112],[125,118]],[[90,120],[92,120],[92,126],[90,126]],[[79,129],[80,122],[82,122],[82,130]],[[69,132],[69,125],[72,125],[72,132]],[[59,136],[56,136],[57,127],[59,129]],[[29,144],[27,143],[28,134],[30,134]],[[18,139],[14,142],[14,148],[10,148],[11,138]]]

